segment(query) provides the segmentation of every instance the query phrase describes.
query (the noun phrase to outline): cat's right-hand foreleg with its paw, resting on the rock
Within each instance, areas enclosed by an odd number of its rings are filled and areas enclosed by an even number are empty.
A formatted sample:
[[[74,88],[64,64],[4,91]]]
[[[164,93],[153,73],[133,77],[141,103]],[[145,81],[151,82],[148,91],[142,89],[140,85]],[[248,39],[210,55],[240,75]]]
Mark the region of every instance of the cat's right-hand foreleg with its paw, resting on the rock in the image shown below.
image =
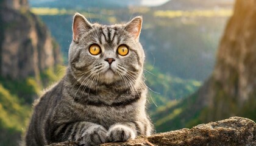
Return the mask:
[[[149,121],[121,122],[112,125],[107,132],[109,142],[123,142],[135,139],[136,136],[151,134],[152,128]]]

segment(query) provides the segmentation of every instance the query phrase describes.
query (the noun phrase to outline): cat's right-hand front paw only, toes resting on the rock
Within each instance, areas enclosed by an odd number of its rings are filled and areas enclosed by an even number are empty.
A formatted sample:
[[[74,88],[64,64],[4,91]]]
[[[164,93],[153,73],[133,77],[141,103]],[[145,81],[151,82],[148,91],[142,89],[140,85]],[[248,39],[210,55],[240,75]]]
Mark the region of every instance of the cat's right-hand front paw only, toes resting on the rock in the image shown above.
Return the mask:
[[[107,133],[108,142],[124,142],[135,137],[134,131],[125,125],[115,125]]]

